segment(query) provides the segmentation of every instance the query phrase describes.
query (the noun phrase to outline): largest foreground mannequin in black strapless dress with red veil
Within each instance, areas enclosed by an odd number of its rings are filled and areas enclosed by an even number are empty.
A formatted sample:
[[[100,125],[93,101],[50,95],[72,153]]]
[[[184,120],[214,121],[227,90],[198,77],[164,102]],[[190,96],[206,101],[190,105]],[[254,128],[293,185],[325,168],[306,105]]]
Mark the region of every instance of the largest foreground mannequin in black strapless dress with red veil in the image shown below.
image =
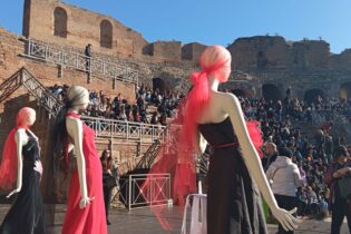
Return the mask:
[[[285,230],[293,230],[298,220],[291,214],[296,209],[287,212],[277,206],[253,145],[261,139],[261,133],[255,125],[248,125],[248,133],[238,99],[217,90],[220,82],[227,81],[231,75],[231,60],[224,47],[212,46],[204,50],[199,62],[202,71],[191,76],[193,89],[186,97],[184,126],[176,147],[178,154],[159,158],[156,165],[159,167],[152,173],[176,165],[173,196],[184,199],[196,189],[193,152],[204,152],[205,138],[213,148],[208,168],[207,233],[267,233],[256,184],[273,215]],[[173,162],[167,165],[163,160]]]

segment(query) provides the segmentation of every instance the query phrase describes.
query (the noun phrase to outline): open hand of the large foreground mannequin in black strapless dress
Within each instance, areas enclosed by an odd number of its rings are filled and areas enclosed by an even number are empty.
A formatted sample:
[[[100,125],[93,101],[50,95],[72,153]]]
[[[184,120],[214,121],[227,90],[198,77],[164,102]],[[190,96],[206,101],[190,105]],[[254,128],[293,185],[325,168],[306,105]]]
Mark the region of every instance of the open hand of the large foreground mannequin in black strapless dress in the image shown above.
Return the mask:
[[[272,209],[272,214],[274,217],[282,224],[283,228],[287,231],[293,231],[298,228],[296,223],[301,223],[301,220],[292,216],[292,214],[296,213],[298,208],[293,208],[290,212],[275,207]]]

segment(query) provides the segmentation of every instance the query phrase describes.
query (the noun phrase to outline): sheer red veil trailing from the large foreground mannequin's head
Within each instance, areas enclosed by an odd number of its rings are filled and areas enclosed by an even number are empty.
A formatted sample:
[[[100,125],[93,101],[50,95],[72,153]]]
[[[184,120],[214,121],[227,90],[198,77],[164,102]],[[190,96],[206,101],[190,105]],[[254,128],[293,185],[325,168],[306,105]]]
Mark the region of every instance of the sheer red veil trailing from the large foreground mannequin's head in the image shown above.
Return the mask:
[[[206,67],[201,61],[202,71],[195,71],[191,75],[193,88],[187,97],[177,108],[177,117],[168,127],[167,136],[164,139],[160,153],[156,158],[156,164],[152,167],[149,176],[143,186],[143,193],[150,188],[152,174],[170,173],[173,178],[173,198],[174,202],[184,205],[186,195],[196,192],[195,177],[195,134],[197,131],[197,121],[204,108],[208,103],[208,75],[214,75],[220,81],[226,81],[221,76],[220,69],[224,67],[230,59],[215,62]],[[263,140],[257,121],[246,124],[253,144],[257,149],[261,148]],[[261,149],[260,149],[261,152]],[[262,154],[260,154],[262,155]],[[153,197],[152,197],[153,199]],[[154,204],[155,205],[155,204]],[[169,231],[169,223],[163,216],[162,207],[153,207],[153,211],[160,222],[162,226]]]

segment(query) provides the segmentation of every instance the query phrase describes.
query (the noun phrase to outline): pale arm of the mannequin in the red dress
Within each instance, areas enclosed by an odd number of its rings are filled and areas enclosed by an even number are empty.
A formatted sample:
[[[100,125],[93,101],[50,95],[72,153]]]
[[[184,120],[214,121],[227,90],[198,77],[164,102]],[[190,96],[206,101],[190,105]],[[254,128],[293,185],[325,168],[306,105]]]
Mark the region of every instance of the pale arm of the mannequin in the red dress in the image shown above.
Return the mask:
[[[82,124],[81,120],[68,117],[66,120],[67,133],[74,139],[77,167],[80,184],[81,201],[79,203],[80,208],[86,207],[89,204],[87,177],[86,177],[86,160],[82,153]]]

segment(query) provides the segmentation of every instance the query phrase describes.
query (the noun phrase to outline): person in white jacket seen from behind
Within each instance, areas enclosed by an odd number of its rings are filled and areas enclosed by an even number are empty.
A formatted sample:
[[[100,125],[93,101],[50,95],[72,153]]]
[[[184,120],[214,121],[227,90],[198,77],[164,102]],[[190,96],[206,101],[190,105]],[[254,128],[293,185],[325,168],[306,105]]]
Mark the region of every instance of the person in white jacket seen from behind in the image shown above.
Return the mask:
[[[279,152],[280,156],[270,165],[266,177],[271,183],[277,205],[289,211],[296,207],[296,191],[298,187],[304,185],[305,181],[301,178],[298,165],[291,160],[292,152],[285,147],[281,148]],[[286,232],[279,225],[277,233],[293,234],[294,232]]]

